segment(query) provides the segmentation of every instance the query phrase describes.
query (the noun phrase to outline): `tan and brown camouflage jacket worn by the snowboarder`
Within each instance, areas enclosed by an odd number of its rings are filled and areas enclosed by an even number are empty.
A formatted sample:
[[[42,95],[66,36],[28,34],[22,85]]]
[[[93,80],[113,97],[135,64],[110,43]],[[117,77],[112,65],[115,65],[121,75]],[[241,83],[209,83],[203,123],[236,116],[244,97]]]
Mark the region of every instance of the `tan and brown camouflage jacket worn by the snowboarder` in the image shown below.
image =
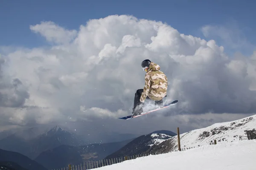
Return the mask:
[[[144,102],[148,96],[152,100],[161,100],[167,94],[168,80],[166,75],[160,71],[160,66],[151,62],[145,74],[145,86],[140,97]]]

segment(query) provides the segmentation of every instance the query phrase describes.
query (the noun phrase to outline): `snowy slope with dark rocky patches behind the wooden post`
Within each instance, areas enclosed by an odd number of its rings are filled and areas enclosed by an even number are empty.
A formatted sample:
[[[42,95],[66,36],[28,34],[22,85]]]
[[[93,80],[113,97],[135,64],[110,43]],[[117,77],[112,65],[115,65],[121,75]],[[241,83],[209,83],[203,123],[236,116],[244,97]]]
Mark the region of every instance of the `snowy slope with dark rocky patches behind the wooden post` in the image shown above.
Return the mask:
[[[180,134],[180,147],[198,147],[198,145],[239,141],[239,136],[247,136],[244,130],[255,130],[256,115],[245,117],[236,121],[215,123],[211,126],[191,130]],[[177,136],[169,139],[175,143],[177,150]]]

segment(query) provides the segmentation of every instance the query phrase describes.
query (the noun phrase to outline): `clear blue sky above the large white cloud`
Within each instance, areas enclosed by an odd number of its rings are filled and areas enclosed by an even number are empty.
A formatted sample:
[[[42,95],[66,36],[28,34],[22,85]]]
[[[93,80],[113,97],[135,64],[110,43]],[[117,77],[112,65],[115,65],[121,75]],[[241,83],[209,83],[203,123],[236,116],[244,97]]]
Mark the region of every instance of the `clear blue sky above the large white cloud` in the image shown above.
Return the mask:
[[[29,29],[29,25],[41,21],[53,21],[64,28],[79,29],[89,19],[131,14],[137,18],[166,22],[183,34],[206,40],[214,38],[218,45],[225,45],[228,52],[234,52],[237,48],[226,47],[230,42],[214,35],[204,37],[200,30],[205,25],[223,26],[227,32],[233,31],[235,36],[232,40],[243,38],[251,45],[240,49],[250,55],[256,44],[255,6],[254,0],[2,0],[0,46],[33,48],[47,45],[43,37]],[[239,35],[236,34],[238,32]]]

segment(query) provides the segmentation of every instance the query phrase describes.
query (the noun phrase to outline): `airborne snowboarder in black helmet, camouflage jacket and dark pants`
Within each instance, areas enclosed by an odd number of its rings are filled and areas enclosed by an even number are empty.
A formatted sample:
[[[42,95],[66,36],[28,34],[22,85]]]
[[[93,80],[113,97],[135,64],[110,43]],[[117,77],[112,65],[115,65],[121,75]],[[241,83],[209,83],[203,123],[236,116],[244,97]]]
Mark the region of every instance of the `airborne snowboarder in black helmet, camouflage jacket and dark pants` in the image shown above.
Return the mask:
[[[166,75],[160,71],[160,66],[149,59],[145,59],[141,62],[141,67],[146,72],[145,86],[135,93],[133,115],[143,113],[145,99],[151,99],[155,101],[156,106],[162,106],[163,97],[167,96],[168,80]]]

